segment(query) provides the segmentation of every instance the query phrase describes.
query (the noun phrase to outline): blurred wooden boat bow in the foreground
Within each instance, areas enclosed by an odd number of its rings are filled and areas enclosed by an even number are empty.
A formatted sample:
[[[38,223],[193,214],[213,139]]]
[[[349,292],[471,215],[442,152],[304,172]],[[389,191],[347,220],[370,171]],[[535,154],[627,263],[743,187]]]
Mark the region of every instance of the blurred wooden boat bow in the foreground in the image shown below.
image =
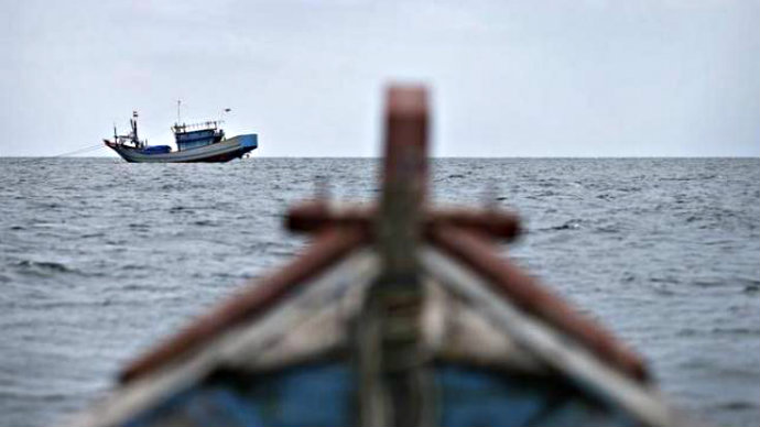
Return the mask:
[[[70,425],[683,425],[638,353],[502,255],[514,214],[427,200],[426,102],[389,90],[377,202],[292,207],[300,256]]]

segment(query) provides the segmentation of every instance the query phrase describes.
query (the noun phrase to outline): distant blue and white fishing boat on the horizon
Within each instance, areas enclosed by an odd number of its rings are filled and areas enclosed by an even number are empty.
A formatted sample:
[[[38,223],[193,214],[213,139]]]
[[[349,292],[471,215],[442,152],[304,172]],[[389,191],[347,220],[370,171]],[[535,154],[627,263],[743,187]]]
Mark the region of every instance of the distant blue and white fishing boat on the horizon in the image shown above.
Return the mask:
[[[221,163],[243,157],[259,146],[256,133],[227,138],[221,120],[181,124],[178,117],[177,113],[177,122],[172,127],[176,150],[170,145],[149,145],[148,140],[140,140],[137,111],[132,112],[128,134],[119,135],[113,127],[113,140],[104,139],[104,143],[131,163]]]

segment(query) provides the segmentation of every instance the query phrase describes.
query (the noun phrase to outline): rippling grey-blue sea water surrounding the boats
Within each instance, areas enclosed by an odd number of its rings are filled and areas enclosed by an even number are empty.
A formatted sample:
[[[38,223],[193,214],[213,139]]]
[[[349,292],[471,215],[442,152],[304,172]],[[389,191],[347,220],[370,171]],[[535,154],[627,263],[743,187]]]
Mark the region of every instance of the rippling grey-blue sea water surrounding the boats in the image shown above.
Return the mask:
[[[651,363],[671,401],[760,421],[760,160],[436,160],[434,198],[517,210],[508,250]],[[286,207],[377,196],[377,161],[0,158],[0,425],[107,393],[124,362],[306,244]],[[315,184],[322,183],[322,184]]]

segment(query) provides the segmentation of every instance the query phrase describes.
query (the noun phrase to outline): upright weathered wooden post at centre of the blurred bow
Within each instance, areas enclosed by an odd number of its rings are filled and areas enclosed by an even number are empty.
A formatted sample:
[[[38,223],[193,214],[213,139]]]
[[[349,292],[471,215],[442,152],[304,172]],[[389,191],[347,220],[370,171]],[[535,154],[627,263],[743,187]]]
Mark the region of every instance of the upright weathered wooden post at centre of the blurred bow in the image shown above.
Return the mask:
[[[427,95],[422,87],[387,94],[382,196],[374,223],[381,275],[358,319],[359,424],[433,423],[432,380],[424,365],[424,292],[417,247],[427,179]]]

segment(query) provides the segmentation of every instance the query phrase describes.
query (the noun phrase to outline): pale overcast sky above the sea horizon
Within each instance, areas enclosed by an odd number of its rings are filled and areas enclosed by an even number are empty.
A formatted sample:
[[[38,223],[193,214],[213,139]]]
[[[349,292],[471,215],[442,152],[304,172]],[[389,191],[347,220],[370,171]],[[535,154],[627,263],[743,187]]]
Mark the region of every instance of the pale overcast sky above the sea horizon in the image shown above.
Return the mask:
[[[432,89],[438,156],[760,155],[752,0],[0,0],[0,155],[133,109],[165,143],[181,98],[256,155],[371,156],[395,80]]]

